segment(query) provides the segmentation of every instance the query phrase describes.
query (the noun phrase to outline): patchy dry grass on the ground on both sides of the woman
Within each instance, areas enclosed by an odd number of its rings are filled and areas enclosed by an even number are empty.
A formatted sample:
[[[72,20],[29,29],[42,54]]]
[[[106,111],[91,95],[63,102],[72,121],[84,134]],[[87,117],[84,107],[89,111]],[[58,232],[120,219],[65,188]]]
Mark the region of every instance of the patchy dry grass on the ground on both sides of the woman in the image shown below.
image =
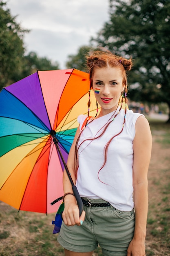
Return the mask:
[[[149,170],[146,256],[166,256],[170,255],[170,125],[150,121],[150,127],[158,152]],[[18,213],[0,203],[0,256],[64,256],[52,234],[54,219],[55,213]],[[103,256],[100,247],[94,256]]]

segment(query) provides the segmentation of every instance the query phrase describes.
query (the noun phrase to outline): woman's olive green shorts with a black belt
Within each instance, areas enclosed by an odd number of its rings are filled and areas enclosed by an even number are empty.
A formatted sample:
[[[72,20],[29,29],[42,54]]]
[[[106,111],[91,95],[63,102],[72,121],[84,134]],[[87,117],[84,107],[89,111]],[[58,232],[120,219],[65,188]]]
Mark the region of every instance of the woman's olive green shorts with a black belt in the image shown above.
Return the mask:
[[[85,198],[84,198],[85,199]],[[102,199],[90,199],[104,203]],[[67,227],[62,222],[58,242],[72,252],[92,252],[98,245],[105,256],[126,256],[135,228],[134,211],[119,211],[113,206],[86,207],[81,226]]]

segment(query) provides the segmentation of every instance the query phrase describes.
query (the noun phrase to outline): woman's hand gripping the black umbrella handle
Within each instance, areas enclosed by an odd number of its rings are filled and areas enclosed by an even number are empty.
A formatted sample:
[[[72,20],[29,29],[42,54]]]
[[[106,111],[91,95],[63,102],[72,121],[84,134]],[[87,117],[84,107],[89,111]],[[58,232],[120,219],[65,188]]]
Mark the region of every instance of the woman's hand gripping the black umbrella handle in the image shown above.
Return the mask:
[[[62,218],[66,226],[82,225],[85,218],[85,211],[79,217],[79,208],[73,195],[66,195],[64,198],[64,211]]]

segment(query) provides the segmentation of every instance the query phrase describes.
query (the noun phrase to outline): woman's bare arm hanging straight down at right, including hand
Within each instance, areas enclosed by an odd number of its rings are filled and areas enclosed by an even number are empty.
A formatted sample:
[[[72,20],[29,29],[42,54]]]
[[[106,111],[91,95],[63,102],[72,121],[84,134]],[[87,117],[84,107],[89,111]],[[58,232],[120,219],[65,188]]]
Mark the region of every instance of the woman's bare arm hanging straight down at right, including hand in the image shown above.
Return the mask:
[[[135,233],[127,256],[145,256],[146,222],[148,214],[148,168],[151,157],[152,136],[148,121],[139,117],[133,141],[133,189],[135,203]]]

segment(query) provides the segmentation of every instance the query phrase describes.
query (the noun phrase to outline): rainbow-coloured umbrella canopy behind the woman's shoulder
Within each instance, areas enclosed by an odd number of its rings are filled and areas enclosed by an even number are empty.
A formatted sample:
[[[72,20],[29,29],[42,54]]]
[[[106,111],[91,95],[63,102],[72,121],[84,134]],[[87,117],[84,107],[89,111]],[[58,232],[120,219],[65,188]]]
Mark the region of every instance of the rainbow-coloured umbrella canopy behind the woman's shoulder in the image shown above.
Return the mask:
[[[64,165],[88,111],[89,75],[68,69],[38,71],[0,92],[0,200],[18,210],[51,213],[63,195]],[[91,91],[91,116],[96,101]]]

